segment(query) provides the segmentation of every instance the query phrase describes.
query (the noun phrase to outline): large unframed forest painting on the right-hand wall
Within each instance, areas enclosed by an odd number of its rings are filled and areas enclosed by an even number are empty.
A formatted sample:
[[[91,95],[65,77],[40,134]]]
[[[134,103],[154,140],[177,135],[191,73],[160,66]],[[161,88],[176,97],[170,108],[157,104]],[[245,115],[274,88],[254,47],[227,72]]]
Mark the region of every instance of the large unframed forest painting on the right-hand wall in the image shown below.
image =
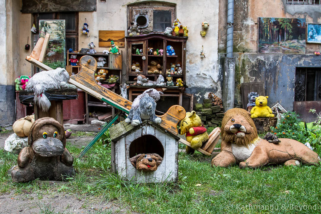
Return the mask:
[[[258,53],[305,54],[305,19],[258,18]]]

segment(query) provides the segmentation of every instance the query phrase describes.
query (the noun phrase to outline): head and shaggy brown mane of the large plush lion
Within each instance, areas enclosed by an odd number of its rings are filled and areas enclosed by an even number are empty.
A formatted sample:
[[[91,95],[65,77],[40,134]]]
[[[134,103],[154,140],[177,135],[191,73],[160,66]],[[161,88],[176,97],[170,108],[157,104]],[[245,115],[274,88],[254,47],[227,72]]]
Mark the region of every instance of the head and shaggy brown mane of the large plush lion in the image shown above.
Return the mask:
[[[225,112],[222,120],[222,140],[247,146],[257,139],[257,130],[250,114],[241,108]]]

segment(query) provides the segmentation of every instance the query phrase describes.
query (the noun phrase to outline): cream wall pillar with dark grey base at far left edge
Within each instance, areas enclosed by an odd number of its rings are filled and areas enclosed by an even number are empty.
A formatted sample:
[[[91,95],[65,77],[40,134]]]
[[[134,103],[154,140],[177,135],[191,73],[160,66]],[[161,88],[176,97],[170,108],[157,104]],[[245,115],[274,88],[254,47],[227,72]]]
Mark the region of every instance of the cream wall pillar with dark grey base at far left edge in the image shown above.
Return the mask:
[[[20,1],[1,0],[0,25],[3,30],[0,42],[0,126],[15,121],[14,79],[19,75],[19,15]]]

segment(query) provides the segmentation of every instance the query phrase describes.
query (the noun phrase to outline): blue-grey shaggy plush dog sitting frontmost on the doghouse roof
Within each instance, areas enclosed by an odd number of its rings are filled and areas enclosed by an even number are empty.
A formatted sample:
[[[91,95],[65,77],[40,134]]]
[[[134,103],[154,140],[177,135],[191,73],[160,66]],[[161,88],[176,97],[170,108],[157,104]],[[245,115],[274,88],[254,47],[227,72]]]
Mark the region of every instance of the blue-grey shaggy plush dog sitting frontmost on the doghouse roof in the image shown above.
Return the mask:
[[[131,108],[133,109],[133,108]],[[132,115],[129,112],[129,116],[126,118],[126,123],[132,123],[136,126],[142,123],[142,120],[150,120],[153,123],[160,124],[161,119],[155,115],[156,102],[147,93],[139,100],[139,108],[136,111],[132,111]]]

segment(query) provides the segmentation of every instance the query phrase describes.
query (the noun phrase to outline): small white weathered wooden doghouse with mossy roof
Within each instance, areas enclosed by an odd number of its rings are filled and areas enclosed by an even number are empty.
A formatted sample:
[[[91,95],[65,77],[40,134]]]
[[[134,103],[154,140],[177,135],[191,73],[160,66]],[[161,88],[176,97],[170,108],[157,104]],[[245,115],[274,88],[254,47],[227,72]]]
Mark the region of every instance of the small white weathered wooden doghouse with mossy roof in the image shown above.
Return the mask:
[[[111,170],[124,180],[156,183],[178,180],[178,139],[149,120],[132,126],[125,121],[109,128],[111,137]],[[157,153],[163,158],[156,171],[138,171],[129,158],[140,153]]]

